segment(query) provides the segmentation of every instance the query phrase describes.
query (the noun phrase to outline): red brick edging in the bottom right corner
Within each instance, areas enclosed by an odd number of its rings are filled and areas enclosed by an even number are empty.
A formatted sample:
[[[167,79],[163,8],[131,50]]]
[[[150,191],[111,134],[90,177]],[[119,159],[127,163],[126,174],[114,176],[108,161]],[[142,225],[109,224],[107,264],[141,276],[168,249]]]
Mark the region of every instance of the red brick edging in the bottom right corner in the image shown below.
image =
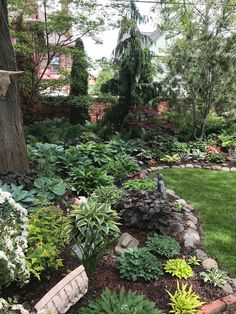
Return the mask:
[[[236,294],[229,294],[226,297],[217,299],[201,308],[198,314],[218,314],[227,313],[227,311],[236,310]]]

